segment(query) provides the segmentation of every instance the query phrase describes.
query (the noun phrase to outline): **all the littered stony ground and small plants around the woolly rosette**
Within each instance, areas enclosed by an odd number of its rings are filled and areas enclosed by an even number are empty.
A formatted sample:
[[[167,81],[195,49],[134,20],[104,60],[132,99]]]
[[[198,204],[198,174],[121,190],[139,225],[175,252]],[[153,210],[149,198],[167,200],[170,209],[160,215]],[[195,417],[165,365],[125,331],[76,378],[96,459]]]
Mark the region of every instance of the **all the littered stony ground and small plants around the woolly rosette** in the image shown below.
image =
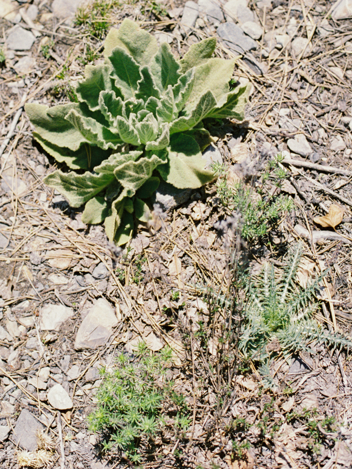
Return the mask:
[[[348,9],[57,1],[0,4],[0,467],[350,467]],[[119,249],[43,184],[23,106],[74,99],[125,18],[217,36],[252,91],[217,180]]]

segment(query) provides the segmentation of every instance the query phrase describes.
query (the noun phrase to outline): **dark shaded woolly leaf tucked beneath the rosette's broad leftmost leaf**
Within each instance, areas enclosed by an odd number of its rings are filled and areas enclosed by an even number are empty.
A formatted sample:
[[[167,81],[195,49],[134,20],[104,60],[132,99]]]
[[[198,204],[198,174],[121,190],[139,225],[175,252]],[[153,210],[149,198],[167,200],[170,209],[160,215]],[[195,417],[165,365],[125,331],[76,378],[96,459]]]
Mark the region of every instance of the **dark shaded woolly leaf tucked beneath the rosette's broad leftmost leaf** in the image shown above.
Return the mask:
[[[33,137],[40,143],[42,148],[53,156],[56,161],[66,163],[71,169],[92,169],[109,157],[111,150],[102,150],[93,145],[83,143],[78,150],[54,145],[43,139],[37,132],[33,132]]]

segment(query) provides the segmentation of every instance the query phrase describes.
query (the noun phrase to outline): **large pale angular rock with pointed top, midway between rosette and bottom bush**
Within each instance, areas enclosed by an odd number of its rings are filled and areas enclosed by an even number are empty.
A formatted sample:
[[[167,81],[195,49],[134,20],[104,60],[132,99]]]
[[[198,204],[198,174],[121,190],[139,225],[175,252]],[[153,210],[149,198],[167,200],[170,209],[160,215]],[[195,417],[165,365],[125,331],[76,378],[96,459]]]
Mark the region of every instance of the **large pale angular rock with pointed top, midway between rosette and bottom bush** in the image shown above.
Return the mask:
[[[105,345],[117,324],[114,310],[104,298],[100,298],[79,326],[74,349],[97,348]]]

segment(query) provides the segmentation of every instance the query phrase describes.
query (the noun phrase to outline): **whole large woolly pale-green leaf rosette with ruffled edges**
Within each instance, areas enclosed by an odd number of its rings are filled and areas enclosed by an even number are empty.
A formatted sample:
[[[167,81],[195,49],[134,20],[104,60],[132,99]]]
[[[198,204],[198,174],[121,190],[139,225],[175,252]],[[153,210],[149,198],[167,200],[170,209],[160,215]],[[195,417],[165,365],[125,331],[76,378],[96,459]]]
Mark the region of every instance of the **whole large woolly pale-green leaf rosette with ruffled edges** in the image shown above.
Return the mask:
[[[243,119],[247,87],[230,90],[235,59],[212,58],[216,39],[192,45],[176,59],[168,44],[132,21],[111,29],[105,60],[85,67],[76,103],[27,104],[34,138],[70,172],[44,181],[72,207],[85,204],[84,223],[105,223],[111,242],[124,244],[134,217],[147,221],[146,200],[160,178],[179,189],[213,179],[201,147],[206,119]]]

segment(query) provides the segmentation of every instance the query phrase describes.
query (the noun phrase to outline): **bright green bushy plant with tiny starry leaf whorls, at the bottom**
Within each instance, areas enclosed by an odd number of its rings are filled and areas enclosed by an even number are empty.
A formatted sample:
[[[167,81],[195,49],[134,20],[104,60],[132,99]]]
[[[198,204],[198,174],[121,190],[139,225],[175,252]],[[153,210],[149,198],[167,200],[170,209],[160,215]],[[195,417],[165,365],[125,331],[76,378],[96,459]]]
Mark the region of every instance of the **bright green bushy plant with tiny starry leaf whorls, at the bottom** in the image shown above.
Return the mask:
[[[101,369],[104,381],[96,395],[97,408],[88,417],[90,430],[100,435],[103,452],[124,452],[135,463],[142,460],[141,443],[152,447],[165,428],[183,437],[190,424],[184,396],[164,378],[171,349],[151,353],[141,342],[137,357],[132,362],[121,353],[113,369]],[[168,415],[170,406],[177,408],[175,416]]]

